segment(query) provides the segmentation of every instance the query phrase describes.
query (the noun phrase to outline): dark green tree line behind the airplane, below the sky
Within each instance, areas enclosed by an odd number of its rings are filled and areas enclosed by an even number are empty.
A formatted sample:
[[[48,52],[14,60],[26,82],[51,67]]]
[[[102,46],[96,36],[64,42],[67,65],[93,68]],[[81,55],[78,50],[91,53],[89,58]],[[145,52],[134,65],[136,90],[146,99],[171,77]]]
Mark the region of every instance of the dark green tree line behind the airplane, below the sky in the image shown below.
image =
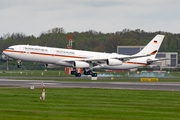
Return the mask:
[[[86,32],[65,32],[64,28],[53,28],[38,37],[24,33],[5,34],[0,37],[0,52],[11,45],[29,44],[57,48],[66,48],[68,35],[72,35],[73,49],[98,52],[117,52],[117,46],[143,46],[155,35],[165,35],[160,52],[178,52],[180,59],[180,34],[169,32],[145,32],[144,30],[123,29],[115,33],[101,33],[95,30]]]

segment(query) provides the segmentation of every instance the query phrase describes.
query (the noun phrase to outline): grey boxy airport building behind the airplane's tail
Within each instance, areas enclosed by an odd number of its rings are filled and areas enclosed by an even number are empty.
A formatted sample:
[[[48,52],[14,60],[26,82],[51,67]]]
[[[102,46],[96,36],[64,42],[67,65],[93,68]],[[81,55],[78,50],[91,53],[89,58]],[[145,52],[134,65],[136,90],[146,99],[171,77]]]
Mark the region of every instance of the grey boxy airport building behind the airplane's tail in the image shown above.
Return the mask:
[[[117,46],[118,54],[133,55],[138,53],[144,48],[144,46]],[[163,60],[157,64],[161,68],[177,68],[178,66],[178,53],[177,52],[158,52],[156,55],[157,59],[168,59]]]

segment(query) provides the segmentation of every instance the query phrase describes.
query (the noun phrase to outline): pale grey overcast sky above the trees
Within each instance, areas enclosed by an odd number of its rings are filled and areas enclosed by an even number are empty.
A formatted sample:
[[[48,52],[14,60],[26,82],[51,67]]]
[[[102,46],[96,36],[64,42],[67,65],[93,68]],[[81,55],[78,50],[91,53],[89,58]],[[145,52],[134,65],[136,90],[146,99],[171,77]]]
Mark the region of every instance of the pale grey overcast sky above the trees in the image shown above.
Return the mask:
[[[66,32],[111,33],[124,28],[180,33],[179,0],[0,0],[0,36]]]

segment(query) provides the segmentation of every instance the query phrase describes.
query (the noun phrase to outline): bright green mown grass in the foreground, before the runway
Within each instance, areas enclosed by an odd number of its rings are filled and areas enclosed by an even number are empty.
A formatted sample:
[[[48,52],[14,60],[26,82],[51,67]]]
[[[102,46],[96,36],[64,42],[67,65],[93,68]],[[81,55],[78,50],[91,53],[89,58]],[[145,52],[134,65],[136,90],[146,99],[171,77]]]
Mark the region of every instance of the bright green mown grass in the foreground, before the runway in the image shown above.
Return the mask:
[[[0,88],[1,120],[179,120],[180,93],[83,88]]]

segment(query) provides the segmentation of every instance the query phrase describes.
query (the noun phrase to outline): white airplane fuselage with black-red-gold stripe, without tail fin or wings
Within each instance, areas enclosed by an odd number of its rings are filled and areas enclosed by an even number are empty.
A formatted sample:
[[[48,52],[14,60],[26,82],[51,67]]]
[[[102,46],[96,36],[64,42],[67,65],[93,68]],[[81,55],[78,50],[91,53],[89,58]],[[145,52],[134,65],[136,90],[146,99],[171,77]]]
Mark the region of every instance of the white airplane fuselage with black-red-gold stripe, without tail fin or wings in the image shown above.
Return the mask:
[[[72,49],[62,49],[62,48],[52,48],[52,47],[42,47],[42,46],[32,46],[32,45],[16,45],[12,46],[13,49],[6,49],[3,53],[11,58],[30,61],[30,62],[40,62],[46,64],[56,64],[60,66],[73,67],[71,62],[63,61],[64,59],[71,60],[85,60],[85,59],[99,59],[99,58],[113,58],[113,57],[128,57],[128,55],[119,55],[116,53],[101,53],[101,52],[91,52],[91,51],[81,51]],[[141,62],[137,62],[141,60]],[[122,65],[107,65],[101,64],[97,68],[103,69],[131,69],[136,67],[146,66],[147,59],[135,58],[124,62]]]

